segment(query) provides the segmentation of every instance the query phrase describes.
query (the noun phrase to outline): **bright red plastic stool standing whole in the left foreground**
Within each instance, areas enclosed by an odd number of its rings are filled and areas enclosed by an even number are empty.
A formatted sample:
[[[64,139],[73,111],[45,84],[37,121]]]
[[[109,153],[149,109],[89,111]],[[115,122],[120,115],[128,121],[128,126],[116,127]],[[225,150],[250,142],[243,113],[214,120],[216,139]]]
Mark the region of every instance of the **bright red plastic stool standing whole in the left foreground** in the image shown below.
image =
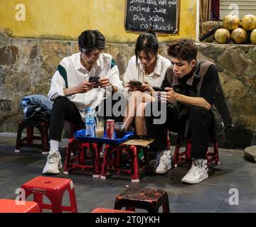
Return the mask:
[[[78,213],[78,206],[75,199],[75,188],[71,179],[56,177],[36,177],[21,186],[25,189],[26,197],[33,194],[33,201],[36,201],[42,212],[43,209],[50,209],[53,213],[70,211]],[[63,206],[63,194],[68,190],[70,206]],[[51,204],[43,204],[43,195],[50,199]]]

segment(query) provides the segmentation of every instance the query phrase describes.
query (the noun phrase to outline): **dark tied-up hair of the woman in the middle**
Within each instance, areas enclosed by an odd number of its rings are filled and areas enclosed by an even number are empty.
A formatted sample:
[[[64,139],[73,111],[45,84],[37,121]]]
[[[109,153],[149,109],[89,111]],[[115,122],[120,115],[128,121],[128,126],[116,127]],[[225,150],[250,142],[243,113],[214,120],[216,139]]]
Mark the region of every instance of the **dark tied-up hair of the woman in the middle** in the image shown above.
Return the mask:
[[[157,51],[159,50],[159,41],[156,38],[156,33],[151,27],[149,27],[146,33],[140,34],[137,38],[134,50],[137,61],[139,52],[141,52],[142,50],[144,50],[147,56],[149,56],[149,53],[156,55]]]

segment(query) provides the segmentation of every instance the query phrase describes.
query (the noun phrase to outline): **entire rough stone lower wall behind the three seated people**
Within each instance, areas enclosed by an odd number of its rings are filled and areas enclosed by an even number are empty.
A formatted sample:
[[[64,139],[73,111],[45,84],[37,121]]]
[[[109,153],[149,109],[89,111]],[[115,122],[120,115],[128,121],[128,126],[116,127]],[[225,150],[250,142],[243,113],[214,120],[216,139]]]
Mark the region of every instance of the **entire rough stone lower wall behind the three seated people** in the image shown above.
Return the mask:
[[[166,56],[166,45],[161,44],[161,55]],[[256,129],[256,46],[201,43],[198,49],[199,58],[218,66],[233,114],[235,128],[226,132],[223,146],[250,145]],[[78,52],[74,41],[12,39],[0,33],[0,131],[16,131],[23,117],[18,107],[21,98],[47,95],[60,60],[73,52]],[[109,43],[105,52],[117,61],[122,78],[134,45]]]

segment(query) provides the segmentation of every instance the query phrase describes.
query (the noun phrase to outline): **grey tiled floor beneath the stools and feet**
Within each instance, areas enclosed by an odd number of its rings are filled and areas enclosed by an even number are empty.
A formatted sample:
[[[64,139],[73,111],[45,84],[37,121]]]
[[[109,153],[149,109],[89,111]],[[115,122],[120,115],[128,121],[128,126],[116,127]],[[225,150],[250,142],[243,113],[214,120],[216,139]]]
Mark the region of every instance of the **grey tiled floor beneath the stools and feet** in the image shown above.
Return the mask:
[[[0,134],[0,198],[15,199],[16,189],[24,182],[41,175],[46,155],[39,150],[22,148],[14,153],[15,135]],[[65,159],[63,140],[62,154]],[[174,149],[172,149],[174,150]],[[242,150],[220,149],[220,165],[210,165],[210,177],[201,184],[182,184],[181,178],[188,166],[172,169],[166,175],[149,175],[139,183],[128,179],[93,179],[90,175],[60,174],[56,177],[73,179],[80,212],[90,212],[95,207],[113,208],[117,194],[127,187],[156,187],[168,192],[171,212],[255,212],[256,164],[243,159]],[[229,204],[231,188],[239,192],[239,205]],[[32,198],[30,198],[32,199]],[[65,194],[63,202],[68,204]],[[142,212],[142,210],[137,210]]]

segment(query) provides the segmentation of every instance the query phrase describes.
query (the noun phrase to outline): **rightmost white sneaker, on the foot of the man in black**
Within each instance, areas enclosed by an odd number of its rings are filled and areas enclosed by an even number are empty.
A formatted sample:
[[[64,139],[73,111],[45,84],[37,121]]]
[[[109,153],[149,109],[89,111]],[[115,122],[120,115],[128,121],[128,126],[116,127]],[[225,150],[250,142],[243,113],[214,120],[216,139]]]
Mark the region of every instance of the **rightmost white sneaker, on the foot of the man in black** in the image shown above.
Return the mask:
[[[188,173],[181,179],[181,182],[188,184],[198,184],[204,179],[208,178],[208,166],[207,160],[195,159],[192,162],[191,169]]]

